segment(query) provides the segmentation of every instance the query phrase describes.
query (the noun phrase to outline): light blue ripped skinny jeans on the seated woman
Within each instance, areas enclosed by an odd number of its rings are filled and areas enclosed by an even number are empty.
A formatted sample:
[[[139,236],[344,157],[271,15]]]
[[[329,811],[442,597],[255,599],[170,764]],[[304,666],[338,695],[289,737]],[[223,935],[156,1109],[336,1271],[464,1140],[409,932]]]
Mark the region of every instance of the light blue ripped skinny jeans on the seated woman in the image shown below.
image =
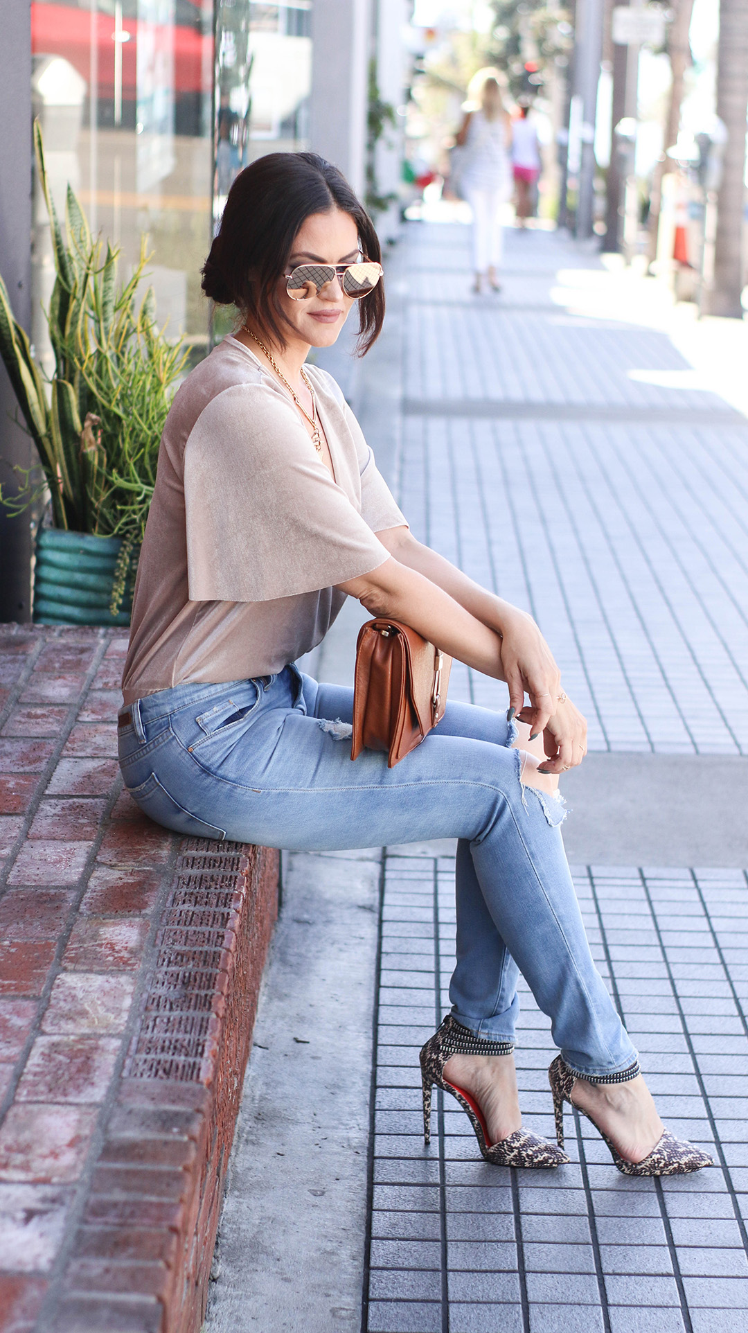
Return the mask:
[[[353,692],[287,666],[279,676],[177,685],[120,713],[120,764],[167,828],[289,850],[459,838],[452,1012],[515,1040],[517,969],[579,1074],[636,1052],[592,960],[560,828],[563,805],[520,784],[503,713],[448,704],[400,764],[351,762]]]

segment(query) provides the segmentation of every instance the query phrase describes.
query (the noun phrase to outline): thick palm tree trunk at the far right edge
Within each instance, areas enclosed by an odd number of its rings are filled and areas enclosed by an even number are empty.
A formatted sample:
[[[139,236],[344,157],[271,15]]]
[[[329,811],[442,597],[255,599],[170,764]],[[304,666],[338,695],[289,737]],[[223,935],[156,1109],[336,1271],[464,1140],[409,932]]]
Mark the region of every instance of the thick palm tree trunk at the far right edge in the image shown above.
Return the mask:
[[[727,128],[717,193],[715,280],[709,315],[743,317],[743,211],[745,200],[745,113],[748,111],[748,21],[745,0],[720,0],[717,116]]]

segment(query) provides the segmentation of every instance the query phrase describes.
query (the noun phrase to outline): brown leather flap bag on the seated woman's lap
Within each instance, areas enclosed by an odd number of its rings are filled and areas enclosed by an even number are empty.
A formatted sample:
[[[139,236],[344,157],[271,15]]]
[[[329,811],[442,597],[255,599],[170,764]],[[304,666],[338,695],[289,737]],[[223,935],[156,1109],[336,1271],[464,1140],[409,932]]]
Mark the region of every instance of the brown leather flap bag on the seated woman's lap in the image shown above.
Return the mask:
[[[444,716],[452,659],[399,620],[367,620],[356,644],[351,758],[388,752],[395,768]]]

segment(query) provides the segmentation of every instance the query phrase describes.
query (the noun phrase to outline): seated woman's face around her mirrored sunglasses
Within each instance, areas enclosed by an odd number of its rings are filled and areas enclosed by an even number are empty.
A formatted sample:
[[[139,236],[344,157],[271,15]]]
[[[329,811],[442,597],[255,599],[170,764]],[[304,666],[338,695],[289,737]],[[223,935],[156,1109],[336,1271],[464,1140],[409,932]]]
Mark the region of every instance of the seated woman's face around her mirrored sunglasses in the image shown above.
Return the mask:
[[[360,259],[359,229],[349,213],[331,208],[328,213],[312,213],[299,228],[285,273],[300,264],[355,264]],[[337,277],[321,287],[317,295],[293,300],[285,291],[287,277],[279,279],[279,299],[283,312],[296,329],[300,343],[311,347],[331,347],[345,324],[353,297],[345,296]],[[284,328],[284,337],[291,331]]]

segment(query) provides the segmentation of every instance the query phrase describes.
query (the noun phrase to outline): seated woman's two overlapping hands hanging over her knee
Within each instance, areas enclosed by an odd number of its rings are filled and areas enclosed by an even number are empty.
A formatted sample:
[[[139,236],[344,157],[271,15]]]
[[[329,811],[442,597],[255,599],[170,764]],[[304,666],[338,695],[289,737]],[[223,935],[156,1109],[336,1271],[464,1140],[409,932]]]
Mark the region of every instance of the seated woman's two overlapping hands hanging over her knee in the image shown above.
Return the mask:
[[[580,764],[587,753],[587,722],[564,694],[559,668],[537,625],[516,608],[501,625],[501,666],[509,710],[529,724],[533,736],[543,732],[547,761],[540,772],[563,773]]]

